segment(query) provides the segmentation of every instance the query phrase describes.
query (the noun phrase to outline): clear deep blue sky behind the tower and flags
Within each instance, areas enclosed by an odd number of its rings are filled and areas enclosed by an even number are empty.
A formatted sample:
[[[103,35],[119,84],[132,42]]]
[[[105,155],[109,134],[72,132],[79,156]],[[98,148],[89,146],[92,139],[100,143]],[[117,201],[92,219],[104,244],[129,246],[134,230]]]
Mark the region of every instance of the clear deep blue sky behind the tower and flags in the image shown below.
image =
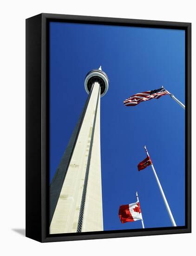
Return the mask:
[[[87,99],[85,75],[102,65],[110,84],[101,98],[104,230],[121,224],[118,209],[136,202],[146,228],[171,226],[151,167],[137,171],[147,146],[177,226],[185,224],[184,110],[169,95],[124,107],[132,94],[162,85],[185,102],[183,30],[50,23],[50,181]]]

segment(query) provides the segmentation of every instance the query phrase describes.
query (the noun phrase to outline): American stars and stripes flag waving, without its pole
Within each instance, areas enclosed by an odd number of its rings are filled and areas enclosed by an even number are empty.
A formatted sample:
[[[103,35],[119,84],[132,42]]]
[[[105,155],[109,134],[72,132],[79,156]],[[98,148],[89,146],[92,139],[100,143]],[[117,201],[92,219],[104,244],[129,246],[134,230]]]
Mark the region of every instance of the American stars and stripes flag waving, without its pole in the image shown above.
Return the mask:
[[[124,101],[125,106],[136,106],[142,101],[149,101],[151,99],[159,99],[161,96],[170,94],[163,87],[157,90],[147,91],[139,94],[134,94]]]

